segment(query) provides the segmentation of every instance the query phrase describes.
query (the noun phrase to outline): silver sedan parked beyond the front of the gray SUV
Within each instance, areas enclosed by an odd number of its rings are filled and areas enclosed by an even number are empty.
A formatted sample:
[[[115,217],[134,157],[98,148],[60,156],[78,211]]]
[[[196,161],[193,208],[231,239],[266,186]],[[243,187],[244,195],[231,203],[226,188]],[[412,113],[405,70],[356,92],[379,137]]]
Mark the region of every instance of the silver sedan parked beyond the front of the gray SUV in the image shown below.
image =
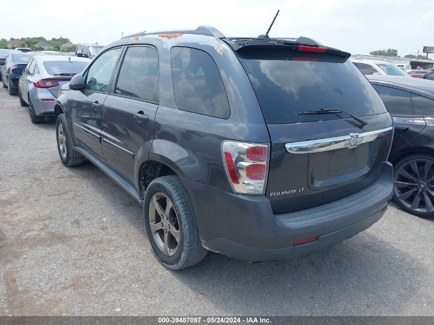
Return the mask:
[[[18,83],[21,106],[29,106],[32,123],[42,123],[54,114],[59,88],[84,70],[90,59],[77,56],[35,55]]]

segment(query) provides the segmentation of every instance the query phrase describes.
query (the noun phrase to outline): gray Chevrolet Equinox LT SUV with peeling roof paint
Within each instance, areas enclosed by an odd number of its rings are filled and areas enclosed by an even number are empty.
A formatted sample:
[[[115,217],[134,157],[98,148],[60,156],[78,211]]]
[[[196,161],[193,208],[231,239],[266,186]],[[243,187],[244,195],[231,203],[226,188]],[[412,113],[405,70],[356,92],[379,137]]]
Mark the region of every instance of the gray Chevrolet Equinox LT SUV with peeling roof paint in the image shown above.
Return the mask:
[[[257,262],[323,250],[378,221],[393,122],[350,54],[212,27],[106,46],[59,91],[60,159],[143,205],[157,258]]]

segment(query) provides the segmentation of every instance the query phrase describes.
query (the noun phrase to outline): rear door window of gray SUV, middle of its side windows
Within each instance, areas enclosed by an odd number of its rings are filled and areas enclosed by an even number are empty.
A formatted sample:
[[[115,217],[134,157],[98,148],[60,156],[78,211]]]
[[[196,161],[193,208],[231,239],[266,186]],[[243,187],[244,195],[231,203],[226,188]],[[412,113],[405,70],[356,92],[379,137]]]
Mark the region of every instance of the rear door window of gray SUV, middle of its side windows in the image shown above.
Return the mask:
[[[115,92],[129,97],[155,101],[157,78],[157,50],[145,46],[130,47],[124,56]]]

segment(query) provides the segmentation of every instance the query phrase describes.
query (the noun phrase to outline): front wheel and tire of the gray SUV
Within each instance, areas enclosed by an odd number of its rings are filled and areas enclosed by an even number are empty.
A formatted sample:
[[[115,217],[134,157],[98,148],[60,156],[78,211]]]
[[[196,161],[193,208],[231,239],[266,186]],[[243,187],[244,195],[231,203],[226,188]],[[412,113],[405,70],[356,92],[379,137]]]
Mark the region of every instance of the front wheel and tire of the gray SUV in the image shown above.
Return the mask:
[[[60,114],[56,120],[56,140],[59,150],[59,157],[67,167],[78,166],[84,163],[84,156],[72,149],[71,134],[65,114]]]

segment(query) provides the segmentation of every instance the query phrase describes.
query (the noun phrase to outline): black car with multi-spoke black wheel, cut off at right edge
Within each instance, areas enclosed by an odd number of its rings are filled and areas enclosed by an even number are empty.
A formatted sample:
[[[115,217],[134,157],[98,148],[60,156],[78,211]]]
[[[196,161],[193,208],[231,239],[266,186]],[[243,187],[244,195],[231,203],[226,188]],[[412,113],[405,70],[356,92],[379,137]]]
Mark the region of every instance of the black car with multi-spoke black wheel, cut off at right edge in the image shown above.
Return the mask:
[[[368,76],[392,114],[394,200],[419,217],[434,217],[434,83]]]

